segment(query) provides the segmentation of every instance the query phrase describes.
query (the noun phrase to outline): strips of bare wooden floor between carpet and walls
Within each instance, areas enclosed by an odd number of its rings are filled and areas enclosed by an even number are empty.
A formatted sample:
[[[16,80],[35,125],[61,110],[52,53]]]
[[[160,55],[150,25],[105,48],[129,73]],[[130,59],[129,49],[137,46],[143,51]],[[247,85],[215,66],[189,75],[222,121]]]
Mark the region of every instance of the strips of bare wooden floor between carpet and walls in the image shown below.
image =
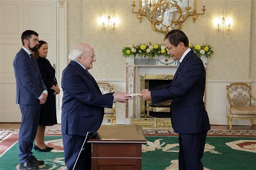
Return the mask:
[[[61,125],[47,126],[46,129],[60,129]],[[0,129],[20,129],[20,123],[0,123]],[[226,125],[211,125],[212,130],[229,130]],[[256,130],[256,125],[232,126],[232,130]]]

